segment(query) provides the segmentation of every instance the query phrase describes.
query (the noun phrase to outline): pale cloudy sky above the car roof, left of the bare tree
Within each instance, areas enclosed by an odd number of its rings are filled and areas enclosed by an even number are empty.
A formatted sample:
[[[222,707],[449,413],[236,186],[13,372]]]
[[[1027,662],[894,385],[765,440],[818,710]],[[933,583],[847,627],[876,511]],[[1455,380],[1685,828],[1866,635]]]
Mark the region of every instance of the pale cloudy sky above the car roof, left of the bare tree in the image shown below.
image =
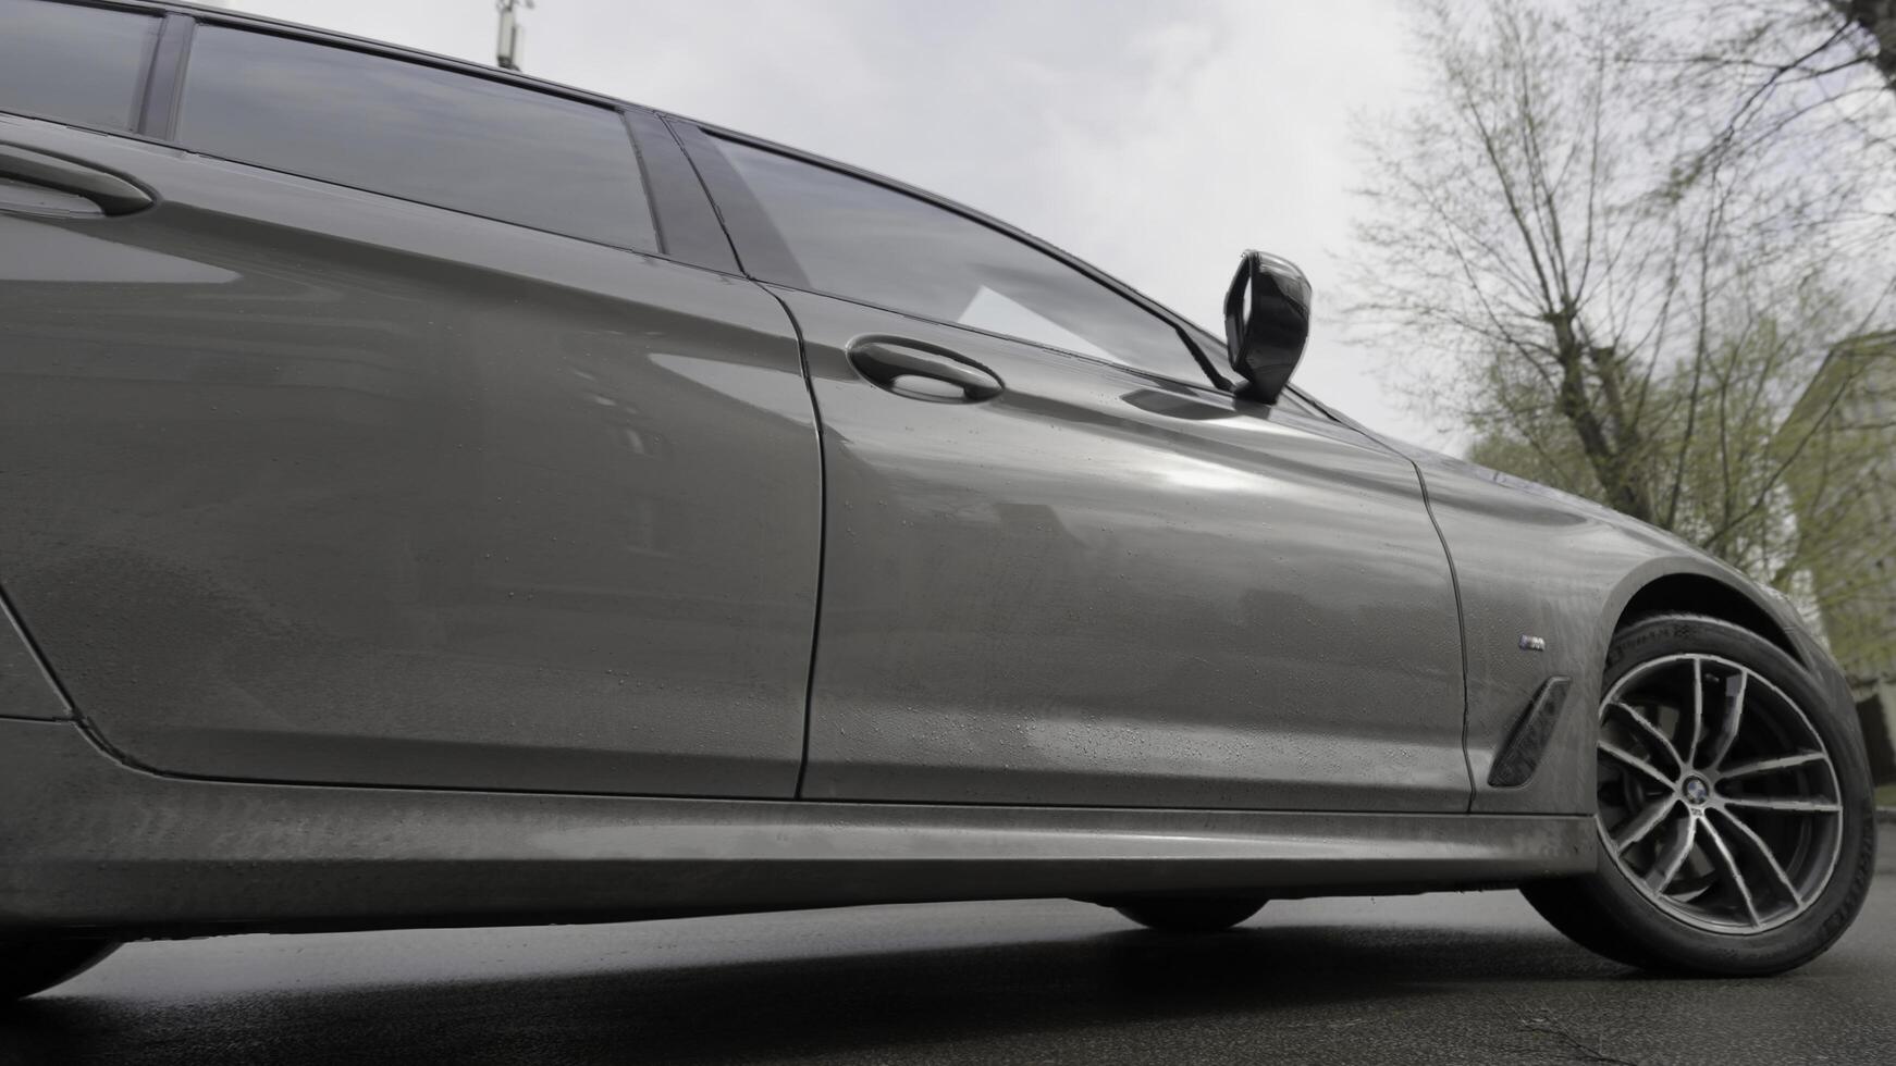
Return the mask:
[[[233,0],[237,9],[493,62],[493,0]],[[1316,290],[1293,379],[1394,435],[1390,341],[1339,309],[1354,119],[1399,106],[1397,0],[537,0],[527,74],[739,129],[1007,220],[1200,324],[1238,254]]]

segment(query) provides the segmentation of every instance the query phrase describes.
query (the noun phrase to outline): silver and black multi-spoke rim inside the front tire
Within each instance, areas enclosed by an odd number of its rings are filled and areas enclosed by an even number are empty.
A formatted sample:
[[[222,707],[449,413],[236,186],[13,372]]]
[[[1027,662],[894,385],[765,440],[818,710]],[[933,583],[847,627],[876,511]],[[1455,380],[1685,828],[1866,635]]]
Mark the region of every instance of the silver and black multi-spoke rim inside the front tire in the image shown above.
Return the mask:
[[[1843,791],[1784,689],[1718,655],[1640,663],[1600,701],[1600,843],[1667,915],[1758,933],[1830,884]]]

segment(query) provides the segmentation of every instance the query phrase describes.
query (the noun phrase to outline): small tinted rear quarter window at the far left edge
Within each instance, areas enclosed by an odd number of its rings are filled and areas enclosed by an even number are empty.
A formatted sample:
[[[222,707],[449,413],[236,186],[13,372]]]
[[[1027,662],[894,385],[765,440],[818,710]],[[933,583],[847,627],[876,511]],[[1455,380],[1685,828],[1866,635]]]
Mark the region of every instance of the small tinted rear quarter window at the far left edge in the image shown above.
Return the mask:
[[[157,19],[0,0],[0,110],[131,129]]]

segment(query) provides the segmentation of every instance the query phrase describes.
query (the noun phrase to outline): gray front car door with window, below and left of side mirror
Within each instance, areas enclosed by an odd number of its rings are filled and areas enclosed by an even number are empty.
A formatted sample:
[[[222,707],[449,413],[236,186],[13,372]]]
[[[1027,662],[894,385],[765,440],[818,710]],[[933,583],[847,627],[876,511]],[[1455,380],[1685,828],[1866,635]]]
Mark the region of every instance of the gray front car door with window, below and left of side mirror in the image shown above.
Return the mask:
[[[1466,808],[1454,585],[1407,460],[1212,388],[1176,322],[1020,235],[686,146],[823,426],[802,795]]]

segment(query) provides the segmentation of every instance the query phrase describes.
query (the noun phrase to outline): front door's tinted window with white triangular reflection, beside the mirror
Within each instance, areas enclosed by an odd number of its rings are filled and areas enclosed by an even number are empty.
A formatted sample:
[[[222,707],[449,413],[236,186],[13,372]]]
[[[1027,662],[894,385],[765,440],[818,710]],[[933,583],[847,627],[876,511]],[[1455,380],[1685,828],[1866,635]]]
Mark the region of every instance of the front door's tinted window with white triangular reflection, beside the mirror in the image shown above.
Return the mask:
[[[815,290],[1200,377],[1172,326],[1031,244],[861,178],[719,144]]]

